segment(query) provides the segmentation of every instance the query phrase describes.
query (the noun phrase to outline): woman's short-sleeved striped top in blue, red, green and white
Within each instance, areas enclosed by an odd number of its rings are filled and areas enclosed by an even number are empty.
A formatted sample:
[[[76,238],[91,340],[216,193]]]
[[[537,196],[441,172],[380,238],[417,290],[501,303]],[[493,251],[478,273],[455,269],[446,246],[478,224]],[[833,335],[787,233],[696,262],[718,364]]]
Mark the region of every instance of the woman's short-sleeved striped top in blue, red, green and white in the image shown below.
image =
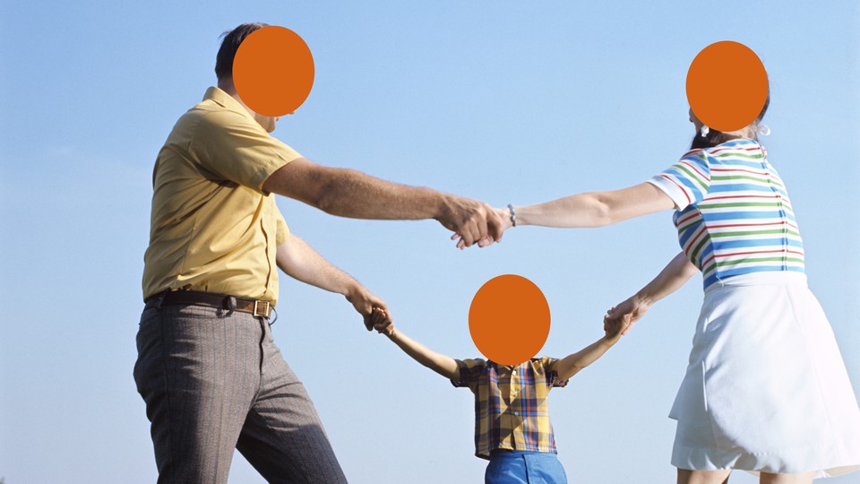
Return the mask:
[[[679,242],[705,289],[751,272],[804,272],[795,212],[761,144],[692,150],[648,181],[675,202]]]

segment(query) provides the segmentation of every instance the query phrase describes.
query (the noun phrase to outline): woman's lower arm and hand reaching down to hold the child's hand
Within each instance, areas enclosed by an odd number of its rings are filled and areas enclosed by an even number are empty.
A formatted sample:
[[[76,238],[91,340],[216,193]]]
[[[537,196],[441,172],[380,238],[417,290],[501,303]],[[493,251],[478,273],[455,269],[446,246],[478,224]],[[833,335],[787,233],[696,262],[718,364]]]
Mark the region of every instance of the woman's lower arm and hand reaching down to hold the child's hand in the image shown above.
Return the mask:
[[[624,302],[606,311],[604,322],[608,324],[618,319],[626,320],[629,323],[624,330],[626,334],[654,303],[680,289],[696,272],[699,272],[699,269],[687,260],[683,252],[675,255],[672,262],[667,264],[653,281]]]

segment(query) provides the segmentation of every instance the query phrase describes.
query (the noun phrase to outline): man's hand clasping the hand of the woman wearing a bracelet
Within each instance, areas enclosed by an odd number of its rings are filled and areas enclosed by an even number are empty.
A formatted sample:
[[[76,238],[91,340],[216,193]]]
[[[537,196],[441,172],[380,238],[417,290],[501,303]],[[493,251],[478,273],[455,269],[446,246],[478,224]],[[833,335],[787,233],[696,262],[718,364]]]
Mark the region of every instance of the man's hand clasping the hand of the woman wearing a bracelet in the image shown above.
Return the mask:
[[[502,240],[504,220],[492,207],[483,202],[451,195],[436,217],[446,229],[456,232],[452,240],[462,249],[477,243],[485,247]]]

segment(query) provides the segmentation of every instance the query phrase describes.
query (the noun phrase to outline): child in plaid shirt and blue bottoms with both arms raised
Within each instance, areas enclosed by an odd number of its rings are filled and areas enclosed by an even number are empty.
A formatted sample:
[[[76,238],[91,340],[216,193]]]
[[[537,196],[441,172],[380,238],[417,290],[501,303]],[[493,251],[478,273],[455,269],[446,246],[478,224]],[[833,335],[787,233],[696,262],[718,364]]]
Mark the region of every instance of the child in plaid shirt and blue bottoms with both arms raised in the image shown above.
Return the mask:
[[[563,359],[533,358],[516,367],[485,359],[452,359],[400,333],[391,317],[374,308],[374,328],[425,367],[475,393],[475,455],[490,462],[486,484],[565,484],[555,454],[546,394],[588,367],[621,338],[628,319],[606,320],[606,336]]]

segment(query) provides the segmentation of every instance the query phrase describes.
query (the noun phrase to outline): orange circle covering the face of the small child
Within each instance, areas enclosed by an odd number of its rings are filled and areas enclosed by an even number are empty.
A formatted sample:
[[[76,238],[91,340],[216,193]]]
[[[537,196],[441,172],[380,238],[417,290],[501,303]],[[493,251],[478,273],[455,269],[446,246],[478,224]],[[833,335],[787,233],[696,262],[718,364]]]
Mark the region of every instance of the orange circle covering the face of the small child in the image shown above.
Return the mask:
[[[534,282],[514,274],[486,281],[469,307],[469,333],[487,359],[519,365],[543,348],[549,305]]]

